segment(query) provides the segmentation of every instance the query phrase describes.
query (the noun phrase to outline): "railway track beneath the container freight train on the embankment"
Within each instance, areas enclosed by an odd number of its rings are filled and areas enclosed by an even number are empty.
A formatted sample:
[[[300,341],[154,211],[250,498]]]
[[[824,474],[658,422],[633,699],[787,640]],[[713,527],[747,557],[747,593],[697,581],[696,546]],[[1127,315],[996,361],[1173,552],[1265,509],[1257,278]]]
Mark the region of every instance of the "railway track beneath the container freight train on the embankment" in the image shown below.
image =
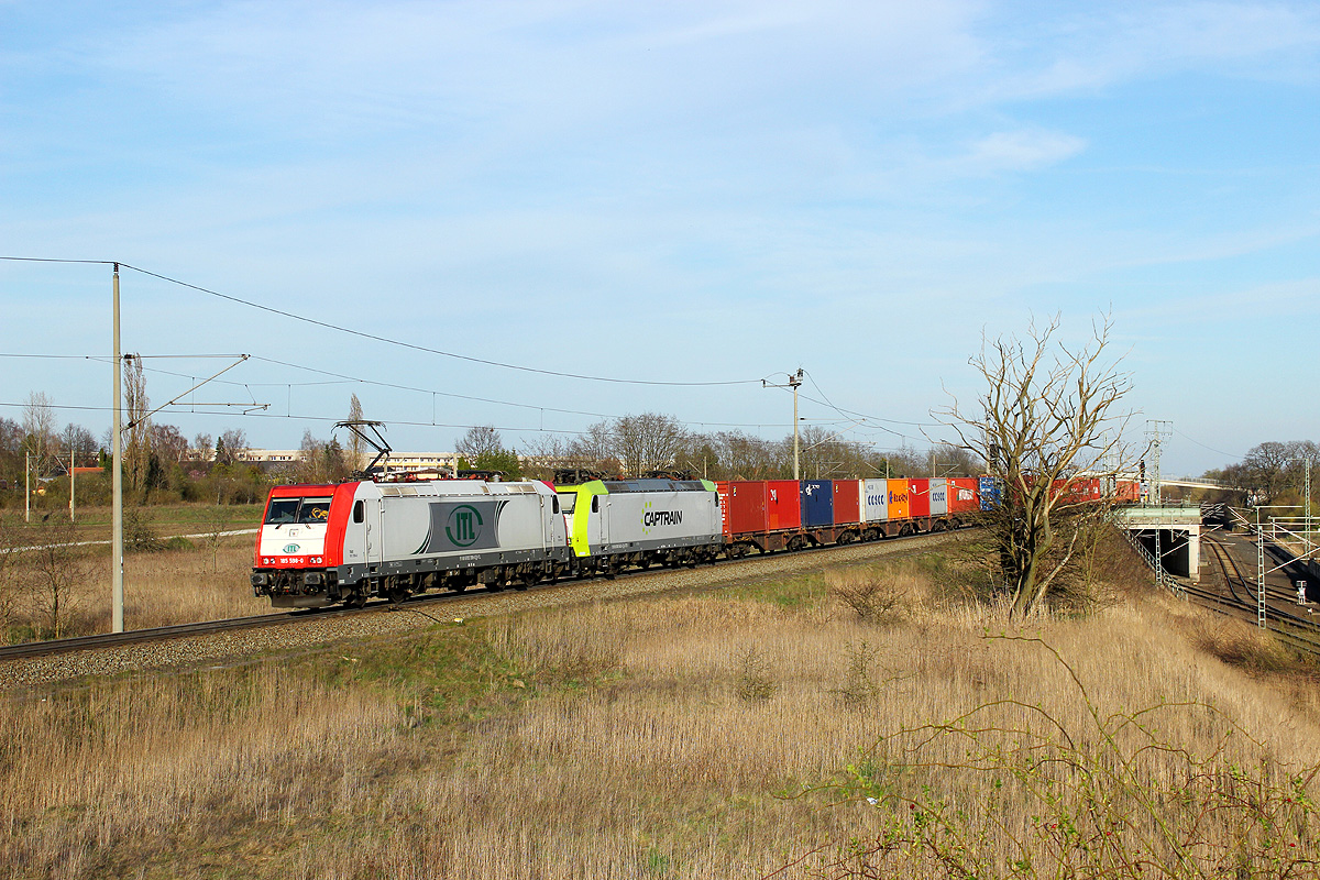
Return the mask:
[[[884,542],[878,544],[851,544],[847,546],[824,546],[812,548],[808,550],[800,550],[792,554],[758,554],[751,557],[742,557],[738,559],[719,559],[714,563],[715,567],[725,569],[729,566],[739,566],[750,562],[764,562],[780,557],[783,559],[805,559],[816,555],[832,555],[841,550],[857,550],[866,546],[892,546],[896,544],[920,546],[923,544],[931,542],[933,538],[948,537],[950,532],[936,532],[916,534],[903,538],[891,538]],[[706,565],[702,569],[710,569]],[[632,570],[620,573],[618,577],[623,578],[638,578],[645,575],[663,575],[665,573],[672,573],[673,569],[649,569],[649,570]],[[730,573],[733,574],[733,573]],[[737,577],[737,575],[733,575]],[[532,592],[544,594],[550,590],[573,590],[576,586],[583,583],[597,583],[599,578],[578,578],[573,581],[560,581],[558,584],[544,587],[533,587]],[[337,617],[358,617],[363,615],[379,613],[383,611],[393,610],[407,610],[426,615],[428,606],[437,606],[449,602],[458,600],[474,600],[482,598],[496,598],[507,595],[517,595],[517,590],[471,590],[463,592],[441,592],[441,594],[424,594],[412,596],[403,603],[393,603],[389,600],[375,600],[368,602],[360,608],[300,608],[286,612],[275,612],[264,615],[253,615],[251,617],[230,617],[224,620],[207,620],[202,623],[178,624],[173,627],[154,627],[150,629],[132,629],[128,632],[117,633],[98,633],[92,636],[78,636],[74,639],[54,639],[49,641],[32,641],[24,643],[21,645],[7,645],[0,648],[0,662],[7,660],[22,660],[22,658],[38,658],[38,657],[53,657],[58,654],[70,654],[78,652],[98,650],[104,648],[121,648],[132,646],[154,641],[172,641],[180,639],[195,639],[199,636],[210,636],[228,632],[242,632],[252,629],[268,629],[296,623],[308,621],[325,621]],[[429,616],[429,615],[426,615]]]

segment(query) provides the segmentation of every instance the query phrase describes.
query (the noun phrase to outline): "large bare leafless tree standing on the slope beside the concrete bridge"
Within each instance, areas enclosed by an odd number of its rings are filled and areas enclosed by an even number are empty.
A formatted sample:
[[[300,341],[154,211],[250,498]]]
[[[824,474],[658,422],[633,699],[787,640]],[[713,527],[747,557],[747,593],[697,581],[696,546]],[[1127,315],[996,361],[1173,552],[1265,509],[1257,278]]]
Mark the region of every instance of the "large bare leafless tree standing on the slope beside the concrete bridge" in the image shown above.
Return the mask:
[[[1130,377],[1110,356],[1113,322],[1093,326],[1086,344],[1056,342],[1059,318],[1035,323],[1026,339],[1003,336],[982,346],[970,364],[986,380],[977,410],[954,402],[939,414],[960,446],[979,455],[1001,483],[1001,505],[989,526],[998,550],[1011,615],[1036,610],[1074,561],[1093,503],[1068,491],[1081,468],[1110,475],[1129,414],[1119,413]]]

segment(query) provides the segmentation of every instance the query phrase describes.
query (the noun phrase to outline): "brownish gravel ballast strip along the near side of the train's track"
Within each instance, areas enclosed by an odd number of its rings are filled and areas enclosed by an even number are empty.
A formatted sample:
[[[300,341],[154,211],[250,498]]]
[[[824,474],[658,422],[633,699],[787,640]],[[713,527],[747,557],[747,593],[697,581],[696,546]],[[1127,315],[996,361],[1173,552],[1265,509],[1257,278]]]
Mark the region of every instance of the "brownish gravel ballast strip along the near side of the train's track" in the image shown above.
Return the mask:
[[[924,551],[965,541],[969,532],[941,533],[876,541],[808,553],[750,557],[734,563],[697,569],[663,569],[636,573],[615,581],[569,581],[528,591],[454,594],[438,602],[408,603],[399,610],[348,617],[309,617],[280,627],[214,633],[191,639],[100,648],[54,657],[11,660],[0,664],[0,689],[50,683],[87,676],[116,676],[148,669],[195,669],[230,666],[268,652],[318,648],[345,640],[362,640],[432,627],[455,617],[499,615],[583,602],[623,599],[680,590],[708,590],[733,583],[822,569],[826,565],[861,562],[875,557]]]

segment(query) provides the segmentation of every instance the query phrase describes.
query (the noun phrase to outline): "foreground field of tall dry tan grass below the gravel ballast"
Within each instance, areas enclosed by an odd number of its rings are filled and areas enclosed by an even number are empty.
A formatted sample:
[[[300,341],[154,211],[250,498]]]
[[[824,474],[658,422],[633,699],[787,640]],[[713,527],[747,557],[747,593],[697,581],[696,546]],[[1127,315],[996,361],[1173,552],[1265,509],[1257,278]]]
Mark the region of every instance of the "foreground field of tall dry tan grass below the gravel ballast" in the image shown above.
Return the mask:
[[[0,875],[1313,876],[1307,668],[1131,584],[1002,633],[958,569],[12,694]]]

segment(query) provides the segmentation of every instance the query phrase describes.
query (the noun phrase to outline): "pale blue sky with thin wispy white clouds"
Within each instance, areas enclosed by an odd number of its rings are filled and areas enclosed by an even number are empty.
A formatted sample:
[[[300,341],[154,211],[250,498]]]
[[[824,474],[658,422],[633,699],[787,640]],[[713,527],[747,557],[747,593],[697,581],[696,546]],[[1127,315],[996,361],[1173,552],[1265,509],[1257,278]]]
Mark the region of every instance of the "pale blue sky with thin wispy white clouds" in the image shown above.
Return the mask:
[[[920,449],[1107,315],[1195,475],[1320,439],[1320,5],[0,0],[0,256],[90,261],[0,260],[0,417],[96,435],[117,261],[153,405],[249,355],[189,437],[780,438],[803,368]]]

